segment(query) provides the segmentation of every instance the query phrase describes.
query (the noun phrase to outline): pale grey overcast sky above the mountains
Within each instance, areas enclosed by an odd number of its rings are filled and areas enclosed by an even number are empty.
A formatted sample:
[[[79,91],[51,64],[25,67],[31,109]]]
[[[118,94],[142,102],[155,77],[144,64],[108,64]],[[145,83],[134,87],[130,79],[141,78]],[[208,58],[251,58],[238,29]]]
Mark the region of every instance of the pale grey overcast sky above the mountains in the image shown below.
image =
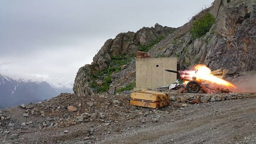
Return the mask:
[[[107,39],[178,27],[214,0],[0,0],[0,73],[72,88]]]

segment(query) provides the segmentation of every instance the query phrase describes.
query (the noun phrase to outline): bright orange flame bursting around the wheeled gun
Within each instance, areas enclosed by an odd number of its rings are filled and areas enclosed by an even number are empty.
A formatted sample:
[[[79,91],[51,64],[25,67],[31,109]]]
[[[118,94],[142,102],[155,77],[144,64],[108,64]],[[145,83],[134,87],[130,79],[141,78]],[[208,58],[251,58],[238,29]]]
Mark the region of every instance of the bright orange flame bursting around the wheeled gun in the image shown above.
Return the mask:
[[[197,80],[208,81],[208,82],[216,83],[218,85],[225,85],[227,87],[233,87],[233,88],[236,87],[232,83],[227,82],[224,79],[220,79],[214,76],[213,74],[211,74],[211,70],[206,65],[195,65],[194,70],[182,71],[181,77],[185,79],[190,79],[190,80],[192,80],[192,77],[196,77]]]

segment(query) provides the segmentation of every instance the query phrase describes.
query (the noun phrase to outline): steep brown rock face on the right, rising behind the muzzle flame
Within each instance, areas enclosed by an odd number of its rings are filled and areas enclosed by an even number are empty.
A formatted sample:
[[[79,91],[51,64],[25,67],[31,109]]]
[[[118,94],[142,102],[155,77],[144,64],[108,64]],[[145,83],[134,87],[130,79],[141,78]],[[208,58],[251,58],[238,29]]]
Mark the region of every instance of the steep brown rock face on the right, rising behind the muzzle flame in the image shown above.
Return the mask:
[[[215,24],[205,36],[192,40],[189,31],[193,21],[209,12],[215,17]],[[230,3],[215,0],[213,7],[194,16],[153,47],[149,54],[151,57],[159,53],[176,56],[180,69],[205,64],[210,69],[229,69],[231,73],[255,70],[255,36],[256,3],[252,0],[231,0]]]

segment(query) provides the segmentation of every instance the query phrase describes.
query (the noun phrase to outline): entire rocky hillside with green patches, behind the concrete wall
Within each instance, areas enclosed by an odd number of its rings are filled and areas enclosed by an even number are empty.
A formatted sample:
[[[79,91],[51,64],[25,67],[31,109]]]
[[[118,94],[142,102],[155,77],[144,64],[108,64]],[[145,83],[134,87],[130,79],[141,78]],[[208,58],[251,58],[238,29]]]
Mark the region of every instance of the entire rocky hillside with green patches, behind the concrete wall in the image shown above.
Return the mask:
[[[105,42],[91,65],[79,69],[73,90],[92,95],[106,90],[114,93],[114,87],[117,92],[131,89],[135,85],[131,57],[137,50],[149,50],[153,58],[177,57],[180,70],[195,64],[226,68],[230,74],[256,70],[255,22],[255,0],[215,0],[212,7],[176,30],[156,24],[136,33],[120,33]]]

